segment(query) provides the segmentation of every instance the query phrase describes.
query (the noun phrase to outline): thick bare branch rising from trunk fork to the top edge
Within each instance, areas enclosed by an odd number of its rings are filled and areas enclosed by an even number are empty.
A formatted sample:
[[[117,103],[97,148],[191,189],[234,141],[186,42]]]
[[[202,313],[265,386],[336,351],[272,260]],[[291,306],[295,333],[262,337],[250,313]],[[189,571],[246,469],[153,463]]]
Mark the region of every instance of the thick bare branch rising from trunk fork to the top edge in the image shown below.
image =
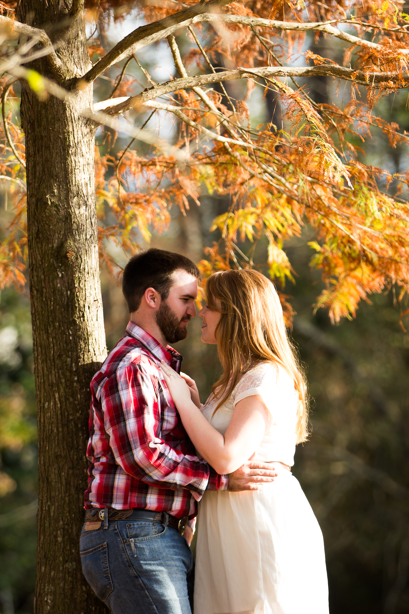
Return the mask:
[[[136,53],[142,47],[147,47],[153,42],[160,41],[162,38],[166,38],[169,34],[174,33],[178,28],[187,27],[193,23],[193,18],[199,14],[206,13],[212,9],[218,9],[219,7],[226,6],[232,0],[209,0],[208,2],[199,2],[194,6],[181,10],[174,15],[164,17],[153,23],[148,23],[145,26],[140,26],[131,34],[128,34],[122,41],[118,42],[113,49],[110,50],[99,62],[94,64],[93,68],[88,71],[81,79],[76,79],[72,82],[72,87],[82,88],[92,83],[105,69],[109,68],[113,63],[119,62],[125,56]],[[215,15],[212,15],[214,20]]]

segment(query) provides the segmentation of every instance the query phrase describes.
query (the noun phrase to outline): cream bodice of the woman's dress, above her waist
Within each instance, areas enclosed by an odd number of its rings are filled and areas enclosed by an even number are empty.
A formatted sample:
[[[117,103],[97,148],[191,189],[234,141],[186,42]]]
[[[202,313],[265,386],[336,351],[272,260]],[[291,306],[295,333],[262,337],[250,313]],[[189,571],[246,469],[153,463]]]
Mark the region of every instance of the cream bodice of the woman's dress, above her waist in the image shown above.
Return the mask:
[[[240,379],[230,397],[216,411],[218,399],[212,394],[201,411],[212,426],[222,435],[230,424],[236,403],[253,395],[261,396],[272,419],[259,447],[251,456],[252,461],[280,461],[294,464],[296,450],[296,423],[299,395],[294,382],[280,365],[259,363]]]

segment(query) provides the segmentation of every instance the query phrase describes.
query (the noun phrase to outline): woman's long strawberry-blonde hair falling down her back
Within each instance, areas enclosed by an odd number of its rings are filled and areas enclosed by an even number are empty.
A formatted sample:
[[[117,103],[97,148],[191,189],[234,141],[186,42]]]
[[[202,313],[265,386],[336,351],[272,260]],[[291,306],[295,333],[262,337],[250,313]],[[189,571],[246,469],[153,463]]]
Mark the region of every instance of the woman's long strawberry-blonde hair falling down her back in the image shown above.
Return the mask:
[[[299,394],[297,443],[307,440],[307,383],[288,339],[272,282],[254,270],[223,271],[208,278],[205,293],[208,308],[221,313],[215,336],[223,375],[212,387],[220,399],[215,411],[255,362],[281,365]]]

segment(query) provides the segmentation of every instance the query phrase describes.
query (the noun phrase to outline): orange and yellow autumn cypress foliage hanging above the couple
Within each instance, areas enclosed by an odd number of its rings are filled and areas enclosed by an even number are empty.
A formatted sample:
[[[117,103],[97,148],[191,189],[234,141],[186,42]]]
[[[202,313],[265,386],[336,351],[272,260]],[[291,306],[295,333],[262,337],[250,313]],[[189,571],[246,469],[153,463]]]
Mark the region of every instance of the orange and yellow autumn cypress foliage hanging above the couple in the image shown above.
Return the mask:
[[[172,144],[152,137],[147,155],[132,149],[134,141],[115,155],[100,157],[96,150],[101,263],[115,273],[111,242],[132,254],[140,249],[141,237],[148,242],[151,231],[161,233],[169,227],[172,204],[185,212],[189,204],[200,204],[203,193],[216,192],[229,195],[231,204],[213,221],[212,230],[220,239],[205,251],[201,262],[205,278],[215,270],[254,266],[256,245],[266,241],[266,270],[283,288],[295,274],[285,252],[286,240],[301,236],[308,225],[315,233],[310,241],[311,265],[321,271],[325,285],[316,309],[328,308],[332,322],[353,317],[359,301],[369,301],[372,293],[394,284],[400,288],[403,305],[409,289],[409,206],[400,196],[406,198],[409,173],[392,175],[388,169],[365,164],[362,157],[363,145],[374,130],[382,131],[392,148],[406,144],[408,138],[397,121],[377,115],[382,98],[409,86],[409,18],[399,6],[384,0],[253,0],[221,7],[218,21],[194,23],[184,39],[188,44],[183,46],[183,71],[205,77],[212,70],[209,62],[221,58],[228,70],[242,71],[237,77],[248,80],[247,95],[254,87],[261,88],[264,96],[273,90],[285,112],[285,124],[272,131],[269,118],[267,126],[251,126],[244,93],[242,99],[227,99],[221,90],[207,89],[209,81],[199,84],[200,90],[190,85],[181,88],[178,81],[178,89],[172,96],[158,98],[157,107],[149,107],[150,100],[143,103],[147,108],[141,106],[141,98],[131,111],[132,120],[135,114],[163,107],[177,122],[177,137]],[[180,10],[174,2],[145,6],[89,0],[86,7],[89,19],[123,19],[137,7],[145,22]],[[249,23],[250,18],[265,21]],[[273,21],[271,27],[268,18],[280,23]],[[340,22],[350,29],[337,28]],[[332,77],[338,91],[339,85],[345,85],[345,101],[338,96],[331,104],[317,104],[308,93],[308,75],[303,87],[290,80],[298,74],[292,50],[300,50],[309,24],[315,24],[311,28],[316,37],[355,37],[343,42],[342,62],[310,51],[300,56],[319,74]],[[91,50],[101,56],[109,51],[97,49],[98,45],[99,39],[91,41]],[[281,66],[289,73],[285,79],[277,76]],[[264,68],[276,73],[260,77],[257,71]],[[118,77],[119,73],[120,69]],[[153,80],[146,70],[145,76],[150,88]],[[136,95],[139,89],[136,80],[125,75],[115,96]],[[23,160],[23,134],[9,123]],[[24,169],[13,158],[4,133],[0,141],[0,170],[13,185],[15,208],[0,246],[0,286],[11,282],[22,286]],[[388,192],[392,182],[394,194]],[[291,324],[288,298],[281,294]]]

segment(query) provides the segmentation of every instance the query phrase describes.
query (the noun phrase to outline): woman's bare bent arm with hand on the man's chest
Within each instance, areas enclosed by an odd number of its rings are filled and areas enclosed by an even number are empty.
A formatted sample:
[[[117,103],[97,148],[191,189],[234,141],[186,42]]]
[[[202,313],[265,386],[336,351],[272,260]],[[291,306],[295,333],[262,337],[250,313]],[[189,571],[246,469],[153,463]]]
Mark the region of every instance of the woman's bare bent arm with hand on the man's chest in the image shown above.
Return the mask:
[[[269,426],[270,413],[261,397],[254,395],[237,403],[223,437],[194,405],[183,378],[164,362],[162,372],[183,426],[197,452],[222,475],[241,467],[258,448]]]

